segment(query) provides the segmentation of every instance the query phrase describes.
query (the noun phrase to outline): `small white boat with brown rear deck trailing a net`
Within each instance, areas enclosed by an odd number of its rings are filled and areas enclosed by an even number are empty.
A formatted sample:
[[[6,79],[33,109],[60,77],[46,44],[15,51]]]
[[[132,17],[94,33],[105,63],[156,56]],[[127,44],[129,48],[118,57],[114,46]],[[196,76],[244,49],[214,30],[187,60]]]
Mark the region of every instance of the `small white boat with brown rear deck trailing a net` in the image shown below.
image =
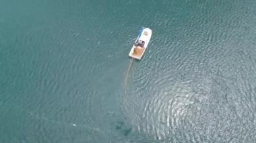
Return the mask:
[[[146,48],[148,47],[151,35],[152,30],[150,30],[150,28],[141,28],[139,36],[135,40],[133,47],[129,52],[129,56],[136,58],[137,60],[141,60]]]

